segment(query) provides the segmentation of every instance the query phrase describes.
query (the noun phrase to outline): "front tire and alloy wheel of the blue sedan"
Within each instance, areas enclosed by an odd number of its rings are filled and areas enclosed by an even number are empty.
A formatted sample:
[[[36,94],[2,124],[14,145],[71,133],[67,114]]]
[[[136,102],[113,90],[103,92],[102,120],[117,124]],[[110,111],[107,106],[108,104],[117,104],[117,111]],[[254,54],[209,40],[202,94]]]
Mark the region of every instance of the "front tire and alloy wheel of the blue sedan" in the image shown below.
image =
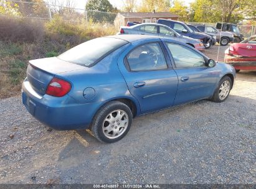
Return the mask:
[[[214,91],[214,95],[212,96],[212,101],[216,103],[222,103],[229,96],[230,90],[232,86],[232,81],[229,76],[224,76]]]

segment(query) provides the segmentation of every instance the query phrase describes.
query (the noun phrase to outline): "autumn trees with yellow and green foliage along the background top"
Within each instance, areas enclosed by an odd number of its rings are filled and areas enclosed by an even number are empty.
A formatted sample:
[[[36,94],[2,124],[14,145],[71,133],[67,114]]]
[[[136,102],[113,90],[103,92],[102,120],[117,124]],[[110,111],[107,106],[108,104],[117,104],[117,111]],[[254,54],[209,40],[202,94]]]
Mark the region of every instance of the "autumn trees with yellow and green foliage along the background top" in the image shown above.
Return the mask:
[[[26,0],[36,4],[24,4],[2,0],[0,2],[0,14],[21,14],[21,15],[42,15],[49,14],[49,9],[44,0]],[[186,4],[183,0],[121,0],[123,6],[120,9],[113,7],[108,0],[88,0],[85,9],[101,12],[156,12],[168,11],[179,16],[180,21],[184,22],[231,22],[239,23],[244,19],[256,24],[256,3],[255,0],[194,0]],[[52,13],[57,14],[76,14],[72,8],[75,7],[75,0],[47,0],[49,4],[57,5],[50,7]],[[65,2],[65,3],[64,3]],[[25,6],[31,6],[29,9]],[[111,15],[103,14],[98,16],[91,12],[92,17],[98,19]],[[25,16],[25,15],[24,15]],[[95,17],[96,18],[96,17]],[[108,18],[107,18],[108,19]]]

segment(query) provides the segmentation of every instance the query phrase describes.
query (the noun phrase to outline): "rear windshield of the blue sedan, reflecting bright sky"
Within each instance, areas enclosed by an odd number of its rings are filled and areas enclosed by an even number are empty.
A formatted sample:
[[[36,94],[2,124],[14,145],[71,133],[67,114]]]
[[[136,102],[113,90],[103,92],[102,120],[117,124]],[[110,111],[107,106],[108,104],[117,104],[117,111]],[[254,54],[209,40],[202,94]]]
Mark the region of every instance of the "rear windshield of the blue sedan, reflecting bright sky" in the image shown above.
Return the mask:
[[[108,53],[113,52],[127,43],[128,42],[121,39],[101,37],[88,40],[83,44],[70,48],[70,50],[59,55],[58,58],[67,62],[90,67],[108,55]]]

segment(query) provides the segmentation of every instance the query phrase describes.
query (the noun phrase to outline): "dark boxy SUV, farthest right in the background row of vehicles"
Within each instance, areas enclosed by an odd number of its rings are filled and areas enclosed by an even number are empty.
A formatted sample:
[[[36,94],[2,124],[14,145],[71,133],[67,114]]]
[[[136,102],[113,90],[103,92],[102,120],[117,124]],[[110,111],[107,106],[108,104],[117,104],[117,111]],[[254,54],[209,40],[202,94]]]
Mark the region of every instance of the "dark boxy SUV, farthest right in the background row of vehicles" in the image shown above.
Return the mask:
[[[239,28],[235,24],[217,22],[216,28],[222,32],[232,32],[234,34],[234,43],[240,43],[244,40],[244,35],[240,33]]]

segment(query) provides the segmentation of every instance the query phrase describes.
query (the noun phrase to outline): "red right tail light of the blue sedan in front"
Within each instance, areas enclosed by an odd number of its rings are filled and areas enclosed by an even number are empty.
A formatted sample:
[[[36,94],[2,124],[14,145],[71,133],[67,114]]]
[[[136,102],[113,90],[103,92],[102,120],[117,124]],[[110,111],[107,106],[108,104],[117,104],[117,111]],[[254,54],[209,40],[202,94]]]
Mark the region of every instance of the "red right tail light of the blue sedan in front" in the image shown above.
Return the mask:
[[[71,85],[68,81],[59,78],[53,78],[47,86],[46,94],[49,94],[50,96],[61,97],[69,93],[70,90]]]

